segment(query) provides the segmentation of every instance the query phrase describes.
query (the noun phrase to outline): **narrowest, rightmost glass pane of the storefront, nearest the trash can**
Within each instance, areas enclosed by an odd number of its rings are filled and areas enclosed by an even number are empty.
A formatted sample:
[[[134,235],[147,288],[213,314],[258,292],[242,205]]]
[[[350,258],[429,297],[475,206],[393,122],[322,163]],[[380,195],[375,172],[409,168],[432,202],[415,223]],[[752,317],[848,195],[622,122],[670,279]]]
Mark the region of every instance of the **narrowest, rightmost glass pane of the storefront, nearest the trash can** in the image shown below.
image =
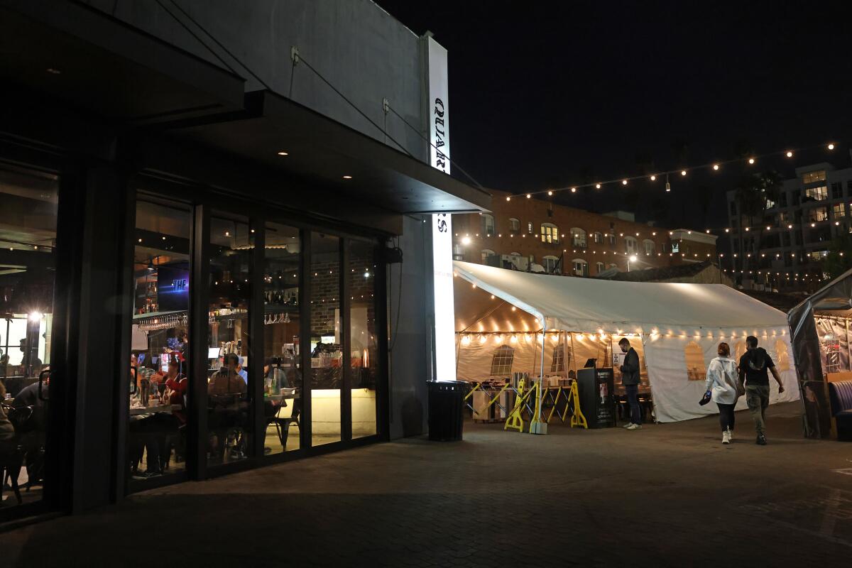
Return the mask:
[[[349,241],[349,337],[352,377],[352,437],[376,433],[378,341],[376,328],[376,248]]]

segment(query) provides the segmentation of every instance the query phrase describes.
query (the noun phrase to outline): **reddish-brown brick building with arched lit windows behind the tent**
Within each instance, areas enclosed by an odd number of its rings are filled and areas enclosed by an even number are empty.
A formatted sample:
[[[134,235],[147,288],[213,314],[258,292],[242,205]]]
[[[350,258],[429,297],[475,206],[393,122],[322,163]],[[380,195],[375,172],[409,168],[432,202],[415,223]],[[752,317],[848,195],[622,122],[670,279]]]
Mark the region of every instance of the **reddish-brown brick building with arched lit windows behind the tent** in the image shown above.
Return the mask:
[[[705,232],[637,223],[624,211],[600,215],[506,192],[492,195],[492,213],[452,216],[456,260],[571,276],[718,260],[717,237]]]

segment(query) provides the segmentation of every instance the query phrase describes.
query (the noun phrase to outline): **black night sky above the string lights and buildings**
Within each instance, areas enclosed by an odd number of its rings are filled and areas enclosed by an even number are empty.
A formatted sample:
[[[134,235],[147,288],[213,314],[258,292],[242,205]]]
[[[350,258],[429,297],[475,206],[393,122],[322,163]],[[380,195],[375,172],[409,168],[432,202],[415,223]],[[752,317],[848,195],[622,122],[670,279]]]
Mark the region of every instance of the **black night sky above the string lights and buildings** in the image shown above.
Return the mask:
[[[452,158],[484,186],[525,192],[641,174],[642,162],[673,169],[826,141],[838,143],[831,155],[756,165],[784,176],[849,165],[846,2],[377,3],[448,50]],[[669,194],[643,181],[559,199],[722,227],[723,192],[743,169],[672,178]],[[701,185],[715,190],[708,214]]]

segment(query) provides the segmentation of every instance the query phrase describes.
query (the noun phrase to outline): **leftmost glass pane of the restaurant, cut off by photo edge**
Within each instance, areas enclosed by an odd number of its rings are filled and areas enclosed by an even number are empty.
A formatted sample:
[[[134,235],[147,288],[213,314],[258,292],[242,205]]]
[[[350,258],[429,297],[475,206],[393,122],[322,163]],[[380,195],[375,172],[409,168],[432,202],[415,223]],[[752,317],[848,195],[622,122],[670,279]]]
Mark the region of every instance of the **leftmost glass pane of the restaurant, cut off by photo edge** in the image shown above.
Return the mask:
[[[0,510],[41,502],[50,482],[57,197],[55,176],[0,166]]]

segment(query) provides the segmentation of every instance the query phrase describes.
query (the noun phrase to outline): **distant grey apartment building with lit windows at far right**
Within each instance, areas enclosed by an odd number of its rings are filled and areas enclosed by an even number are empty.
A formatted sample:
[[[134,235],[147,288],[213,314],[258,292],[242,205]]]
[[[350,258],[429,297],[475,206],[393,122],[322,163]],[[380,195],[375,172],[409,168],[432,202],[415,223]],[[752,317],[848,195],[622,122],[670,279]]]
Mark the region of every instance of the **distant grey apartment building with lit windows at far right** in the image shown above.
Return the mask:
[[[822,261],[834,238],[852,232],[852,168],[822,162],[796,169],[763,215],[742,216],[728,192],[732,255],[725,269],[744,287],[810,290],[824,278]],[[751,226],[750,226],[751,225]],[[737,255],[734,257],[734,255]]]

